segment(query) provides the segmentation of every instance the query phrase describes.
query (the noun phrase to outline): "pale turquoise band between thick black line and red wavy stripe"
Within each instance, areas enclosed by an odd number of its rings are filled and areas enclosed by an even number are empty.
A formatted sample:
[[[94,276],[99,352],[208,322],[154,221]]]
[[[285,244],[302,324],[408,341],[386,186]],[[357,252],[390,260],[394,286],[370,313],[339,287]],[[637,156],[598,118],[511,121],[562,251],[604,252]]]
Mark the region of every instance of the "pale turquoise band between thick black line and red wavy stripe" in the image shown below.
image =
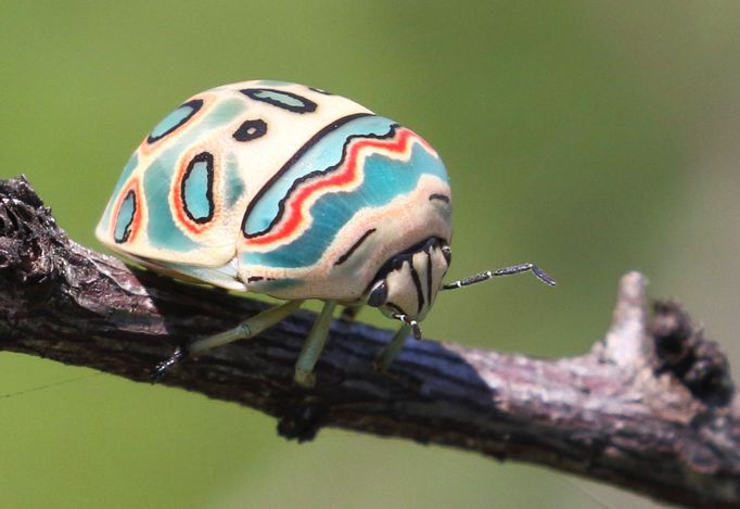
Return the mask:
[[[365,116],[329,132],[306,151],[277,181],[272,182],[267,192],[255,202],[244,224],[245,233],[263,231],[270,225],[278,215],[280,201],[297,179],[340,163],[349,137],[383,137],[391,131],[394,124],[393,120],[381,116]]]

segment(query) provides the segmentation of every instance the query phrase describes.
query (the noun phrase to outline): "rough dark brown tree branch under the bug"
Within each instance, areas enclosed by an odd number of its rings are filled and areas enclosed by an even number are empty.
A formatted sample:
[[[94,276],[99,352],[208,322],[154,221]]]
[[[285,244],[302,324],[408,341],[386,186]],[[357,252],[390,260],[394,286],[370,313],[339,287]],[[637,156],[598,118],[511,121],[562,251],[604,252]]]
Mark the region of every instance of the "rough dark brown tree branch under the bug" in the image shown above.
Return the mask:
[[[336,427],[550,466],[687,506],[740,506],[740,404],[717,345],[676,304],[646,310],[620,283],[591,352],[541,360],[409,340],[371,369],[391,333],[336,320],[310,391],[293,364],[315,315],[175,367],[162,382],[258,408],[281,435]],[[55,225],[24,179],[0,181],[0,348],[148,382],[173,348],[233,327],[257,301],[131,269]]]

